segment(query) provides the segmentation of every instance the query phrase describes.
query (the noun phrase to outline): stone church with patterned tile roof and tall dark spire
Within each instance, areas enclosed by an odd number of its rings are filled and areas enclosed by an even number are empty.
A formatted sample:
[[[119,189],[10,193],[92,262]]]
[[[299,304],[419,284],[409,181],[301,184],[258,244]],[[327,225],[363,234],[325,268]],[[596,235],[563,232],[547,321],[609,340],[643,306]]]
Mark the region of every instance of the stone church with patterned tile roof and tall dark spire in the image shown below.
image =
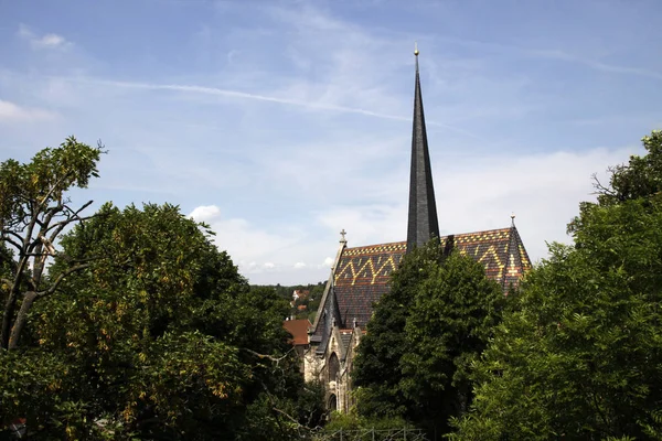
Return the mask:
[[[389,276],[407,250],[439,237],[439,223],[428,150],[418,50],[414,90],[414,128],[407,240],[391,244],[348,247],[344,230],[327,281],[314,323],[309,330],[309,349],[305,354],[307,381],[319,380],[325,389],[330,410],[348,412],[352,400],[352,362],[356,346],[372,316],[373,304],[389,290]],[[485,275],[504,292],[516,287],[531,262],[515,228],[510,226],[485,232],[439,237],[441,246],[470,256],[481,263]]]

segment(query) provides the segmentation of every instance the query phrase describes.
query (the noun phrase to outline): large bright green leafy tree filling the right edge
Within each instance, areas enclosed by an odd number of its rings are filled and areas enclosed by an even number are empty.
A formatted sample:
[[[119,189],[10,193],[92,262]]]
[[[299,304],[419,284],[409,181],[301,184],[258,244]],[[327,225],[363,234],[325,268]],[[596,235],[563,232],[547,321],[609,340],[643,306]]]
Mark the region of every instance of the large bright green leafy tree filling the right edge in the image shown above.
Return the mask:
[[[456,440],[662,438],[662,133],[526,278]]]

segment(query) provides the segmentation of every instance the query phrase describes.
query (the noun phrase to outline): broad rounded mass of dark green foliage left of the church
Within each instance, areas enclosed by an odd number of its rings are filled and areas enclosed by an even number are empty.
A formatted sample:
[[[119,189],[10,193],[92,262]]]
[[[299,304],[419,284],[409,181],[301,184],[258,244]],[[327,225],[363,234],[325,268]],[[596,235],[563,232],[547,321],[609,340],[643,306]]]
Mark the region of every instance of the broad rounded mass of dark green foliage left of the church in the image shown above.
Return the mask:
[[[64,237],[51,277],[96,258],[35,304],[30,347],[0,353],[2,422],[26,416],[31,439],[297,438],[322,401],[300,399],[289,305],[204,230],[175,206],[107,204]]]

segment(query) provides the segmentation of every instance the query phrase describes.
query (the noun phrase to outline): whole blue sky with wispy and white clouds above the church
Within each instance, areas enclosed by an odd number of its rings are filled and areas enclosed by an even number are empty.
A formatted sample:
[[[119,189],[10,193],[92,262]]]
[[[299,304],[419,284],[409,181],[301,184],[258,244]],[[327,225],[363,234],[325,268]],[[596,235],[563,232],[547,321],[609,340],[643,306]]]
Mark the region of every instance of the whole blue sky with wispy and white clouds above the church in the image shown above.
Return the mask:
[[[0,160],[108,153],[74,202],[172,203],[252,283],[406,239],[414,42],[441,234],[570,243],[662,128],[659,0],[0,0]]]

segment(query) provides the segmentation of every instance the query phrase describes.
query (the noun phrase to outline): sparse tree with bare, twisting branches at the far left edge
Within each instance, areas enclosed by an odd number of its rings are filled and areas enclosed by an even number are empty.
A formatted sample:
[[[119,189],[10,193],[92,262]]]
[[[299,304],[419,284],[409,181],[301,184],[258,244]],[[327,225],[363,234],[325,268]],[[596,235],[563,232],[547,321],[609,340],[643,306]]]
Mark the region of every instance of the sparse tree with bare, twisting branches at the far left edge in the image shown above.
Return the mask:
[[[86,256],[66,256],[66,269],[58,278],[45,276],[47,259],[57,254],[54,246],[60,234],[85,220],[81,213],[92,204],[73,207],[66,192],[84,189],[90,178],[98,176],[100,153],[100,144],[92,148],[70,137],[58,148],[40,151],[29,163],[8,160],[0,164],[0,246],[2,265],[11,267],[1,286],[0,348],[17,347],[35,300],[53,294],[66,276],[87,267]]]

